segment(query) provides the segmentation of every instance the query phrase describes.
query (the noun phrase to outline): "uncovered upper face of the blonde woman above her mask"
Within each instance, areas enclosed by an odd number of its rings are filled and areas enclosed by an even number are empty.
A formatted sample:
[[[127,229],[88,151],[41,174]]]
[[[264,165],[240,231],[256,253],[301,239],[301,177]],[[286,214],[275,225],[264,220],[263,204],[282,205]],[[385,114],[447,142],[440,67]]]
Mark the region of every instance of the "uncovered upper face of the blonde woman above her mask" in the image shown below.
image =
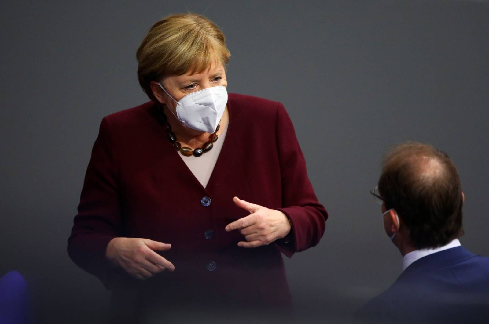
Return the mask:
[[[202,89],[218,85],[227,87],[226,73],[222,63],[212,64],[209,69],[204,69],[200,73],[165,77],[160,83],[176,101],[180,101],[189,93]],[[177,103],[168,97],[163,90],[161,90],[160,96],[156,96],[156,98],[171,109],[174,114],[177,113]]]

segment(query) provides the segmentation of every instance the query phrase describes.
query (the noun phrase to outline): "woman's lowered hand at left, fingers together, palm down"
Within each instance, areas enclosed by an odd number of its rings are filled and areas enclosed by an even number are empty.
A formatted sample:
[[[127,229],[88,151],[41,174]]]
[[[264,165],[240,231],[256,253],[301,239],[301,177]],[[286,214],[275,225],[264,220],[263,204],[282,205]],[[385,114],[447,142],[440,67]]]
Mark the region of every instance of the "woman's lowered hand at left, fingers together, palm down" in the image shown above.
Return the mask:
[[[116,237],[109,242],[105,256],[134,278],[145,280],[175,266],[155,251],[167,251],[171,244],[148,239]]]

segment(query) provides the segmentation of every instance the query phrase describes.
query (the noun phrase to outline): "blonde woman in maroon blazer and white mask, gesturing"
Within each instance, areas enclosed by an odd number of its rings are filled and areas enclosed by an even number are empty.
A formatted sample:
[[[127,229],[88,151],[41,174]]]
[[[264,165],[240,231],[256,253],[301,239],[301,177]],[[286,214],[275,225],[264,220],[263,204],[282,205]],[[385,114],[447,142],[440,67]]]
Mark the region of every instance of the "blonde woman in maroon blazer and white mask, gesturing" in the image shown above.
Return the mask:
[[[136,57],[151,101],[102,120],[69,256],[129,322],[289,310],[281,253],[319,243],[327,212],[283,105],[227,93],[224,35],[197,14],[156,22]]]

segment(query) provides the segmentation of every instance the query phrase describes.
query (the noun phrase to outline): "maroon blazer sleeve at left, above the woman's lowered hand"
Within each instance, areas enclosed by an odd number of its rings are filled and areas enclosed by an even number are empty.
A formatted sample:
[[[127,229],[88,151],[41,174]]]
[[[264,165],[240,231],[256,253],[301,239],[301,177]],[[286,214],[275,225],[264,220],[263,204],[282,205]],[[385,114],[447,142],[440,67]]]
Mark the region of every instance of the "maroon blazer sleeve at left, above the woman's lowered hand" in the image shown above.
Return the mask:
[[[118,236],[121,223],[117,174],[111,123],[105,117],[93,144],[67,250],[74,263],[98,277],[108,289],[111,271],[117,270],[105,253],[109,242]]]

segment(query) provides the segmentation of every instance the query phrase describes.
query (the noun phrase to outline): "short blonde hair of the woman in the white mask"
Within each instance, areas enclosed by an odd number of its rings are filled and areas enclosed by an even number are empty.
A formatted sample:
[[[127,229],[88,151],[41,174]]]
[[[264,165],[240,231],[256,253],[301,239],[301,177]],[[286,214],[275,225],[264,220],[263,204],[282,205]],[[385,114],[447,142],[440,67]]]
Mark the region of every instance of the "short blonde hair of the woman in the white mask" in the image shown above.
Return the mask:
[[[136,52],[139,84],[156,101],[151,81],[167,75],[201,72],[215,61],[227,63],[231,53],[224,40],[221,29],[198,14],[175,14],[159,20]]]

